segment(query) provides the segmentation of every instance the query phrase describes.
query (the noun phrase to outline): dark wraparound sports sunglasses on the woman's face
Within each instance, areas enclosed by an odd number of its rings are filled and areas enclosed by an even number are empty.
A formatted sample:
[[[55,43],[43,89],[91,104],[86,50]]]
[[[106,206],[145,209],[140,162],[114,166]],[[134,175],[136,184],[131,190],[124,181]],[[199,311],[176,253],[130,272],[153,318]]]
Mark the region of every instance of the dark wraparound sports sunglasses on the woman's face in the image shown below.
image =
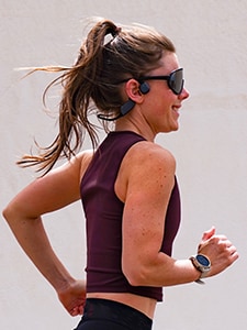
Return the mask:
[[[173,70],[169,76],[144,76],[138,80],[166,80],[168,87],[173,91],[173,94],[180,95],[184,84],[183,69],[179,68]]]

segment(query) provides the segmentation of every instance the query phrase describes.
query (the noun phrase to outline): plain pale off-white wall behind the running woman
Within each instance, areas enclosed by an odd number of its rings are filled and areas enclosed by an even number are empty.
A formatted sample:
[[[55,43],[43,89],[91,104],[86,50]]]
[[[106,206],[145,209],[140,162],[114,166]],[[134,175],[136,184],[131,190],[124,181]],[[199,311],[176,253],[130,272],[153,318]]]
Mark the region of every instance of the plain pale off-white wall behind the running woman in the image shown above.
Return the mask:
[[[157,142],[176,156],[182,195],[182,226],[173,256],[195,253],[212,224],[238,248],[240,258],[205,286],[165,289],[155,330],[244,330],[247,326],[247,1],[246,0],[0,0],[0,208],[36,174],[15,161],[35,138],[46,145],[57,132],[44,113],[42,92],[54,77],[21,79],[15,68],[71,65],[85,35],[85,20],[155,26],[176,44],[190,99],[180,131]],[[50,96],[56,106],[58,97]],[[85,147],[89,147],[86,145]],[[66,189],[66,187],[65,187]],[[61,191],[63,193],[63,191]],[[83,276],[85,219],[80,204],[44,217],[55,251],[76,277]],[[0,221],[0,328],[72,329],[53,288]]]

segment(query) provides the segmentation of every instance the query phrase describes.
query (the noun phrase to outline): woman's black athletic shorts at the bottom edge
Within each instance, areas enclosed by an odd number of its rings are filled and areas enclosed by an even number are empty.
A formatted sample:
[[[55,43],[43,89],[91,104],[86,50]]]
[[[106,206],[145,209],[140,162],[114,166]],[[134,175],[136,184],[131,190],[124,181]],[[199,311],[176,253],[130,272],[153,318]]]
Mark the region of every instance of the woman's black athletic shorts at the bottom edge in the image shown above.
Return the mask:
[[[121,302],[89,298],[75,330],[150,330],[153,321],[141,311]]]

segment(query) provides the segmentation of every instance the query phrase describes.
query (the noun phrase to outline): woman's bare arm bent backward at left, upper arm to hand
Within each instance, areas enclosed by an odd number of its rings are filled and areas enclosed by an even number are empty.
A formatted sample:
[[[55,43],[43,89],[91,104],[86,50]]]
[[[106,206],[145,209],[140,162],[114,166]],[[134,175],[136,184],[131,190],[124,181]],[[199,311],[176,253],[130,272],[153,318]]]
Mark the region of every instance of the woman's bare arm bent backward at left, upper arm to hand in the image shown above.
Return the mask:
[[[71,314],[81,312],[85,283],[76,280],[53,251],[42,222],[42,215],[58,210],[80,198],[80,154],[70,162],[35,179],[3,210],[18,242],[38,271],[52,284],[61,304]]]

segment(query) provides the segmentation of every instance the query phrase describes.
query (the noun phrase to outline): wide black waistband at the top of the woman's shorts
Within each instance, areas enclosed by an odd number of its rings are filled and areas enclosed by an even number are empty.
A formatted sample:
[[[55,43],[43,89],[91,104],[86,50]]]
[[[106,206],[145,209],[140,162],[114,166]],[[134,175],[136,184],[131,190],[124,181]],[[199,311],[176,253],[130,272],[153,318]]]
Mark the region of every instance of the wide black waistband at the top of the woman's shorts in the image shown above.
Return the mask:
[[[86,300],[82,319],[85,321],[90,319],[109,320],[134,330],[150,330],[153,324],[153,320],[137,309],[101,298],[88,298]]]

